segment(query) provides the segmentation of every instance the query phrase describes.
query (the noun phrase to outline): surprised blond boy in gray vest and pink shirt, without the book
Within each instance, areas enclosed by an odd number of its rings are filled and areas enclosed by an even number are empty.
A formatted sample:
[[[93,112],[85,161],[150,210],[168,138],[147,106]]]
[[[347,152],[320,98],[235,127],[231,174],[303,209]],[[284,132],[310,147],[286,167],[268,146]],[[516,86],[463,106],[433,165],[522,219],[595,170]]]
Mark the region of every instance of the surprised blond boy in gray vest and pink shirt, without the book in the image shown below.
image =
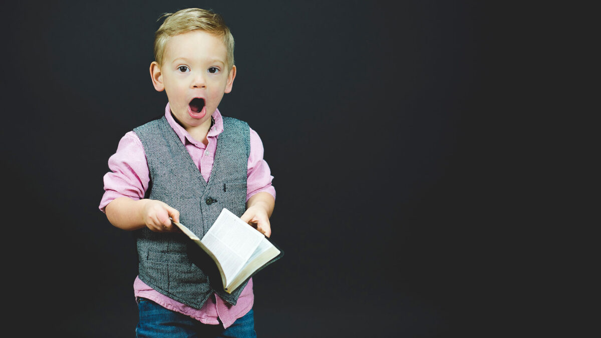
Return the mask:
[[[99,207],[115,227],[137,230],[137,336],[254,337],[252,278],[231,294],[211,287],[169,218],[202,238],[226,207],[270,236],[273,177],[257,133],[217,109],[236,77],[222,17],[198,8],[165,17],[150,64],[165,115],[121,138]]]

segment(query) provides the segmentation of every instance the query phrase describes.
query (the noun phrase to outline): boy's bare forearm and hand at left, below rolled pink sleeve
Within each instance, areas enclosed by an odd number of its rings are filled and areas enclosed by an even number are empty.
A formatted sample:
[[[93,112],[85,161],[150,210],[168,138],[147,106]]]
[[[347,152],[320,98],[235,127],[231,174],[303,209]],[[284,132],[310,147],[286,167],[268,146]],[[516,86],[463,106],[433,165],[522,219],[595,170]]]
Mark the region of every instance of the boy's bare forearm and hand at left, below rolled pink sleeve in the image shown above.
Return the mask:
[[[106,217],[115,227],[123,230],[138,230],[144,227],[154,232],[177,232],[179,229],[169,219],[179,222],[180,212],[168,204],[144,198],[132,200],[115,198],[106,206]]]

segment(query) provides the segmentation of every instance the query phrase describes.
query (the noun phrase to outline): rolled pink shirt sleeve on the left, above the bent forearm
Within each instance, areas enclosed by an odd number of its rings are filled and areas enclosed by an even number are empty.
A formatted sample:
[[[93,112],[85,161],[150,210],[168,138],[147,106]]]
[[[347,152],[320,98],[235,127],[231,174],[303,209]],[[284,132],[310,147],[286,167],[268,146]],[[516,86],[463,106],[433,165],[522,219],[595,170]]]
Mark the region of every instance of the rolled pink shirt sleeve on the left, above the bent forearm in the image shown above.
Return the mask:
[[[109,158],[108,164],[111,171],[104,176],[105,194],[99,205],[102,212],[105,212],[107,204],[115,198],[144,198],[150,182],[150,173],[144,146],[135,132],[128,132],[121,138],[117,152]]]

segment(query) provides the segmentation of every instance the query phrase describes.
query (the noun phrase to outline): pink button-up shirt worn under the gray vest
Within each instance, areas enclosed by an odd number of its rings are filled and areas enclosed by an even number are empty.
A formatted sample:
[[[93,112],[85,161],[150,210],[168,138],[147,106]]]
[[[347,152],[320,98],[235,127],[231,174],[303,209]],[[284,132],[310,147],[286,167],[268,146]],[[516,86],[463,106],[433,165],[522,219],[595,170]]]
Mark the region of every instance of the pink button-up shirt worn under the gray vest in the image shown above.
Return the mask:
[[[217,109],[213,113],[215,124],[209,129],[207,134],[208,144],[205,146],[202,142],[194,140],[191,135],[178,124],[171,115],[169,103],[165,107],[165,117],[180,138],[186,150],[190,153],[192,161],[197,164],[198,170],[204,179],[209,182],[213,161],[215,160],[215,150],[217,149],[217,139],[223,131],[223,120],[221,113]],[[269,165],[263,159],[263,143],[258,137],[257,132],[250,130],[251,152],[248,158],[248,170],[246,172],[246,200],[257,192],[265,191],[275,198],[275,189],[271,185],[273,176],[269,170]],[[129,197],[133,200],[144,198],[150,182],[148,164],[144,153],[144,147],[135,132],[130,131],[121,138],[117,152],[109,158],[109,169],[104,177],[105,194],[100,201],[99,209],[105,212],[105,207],[112,200],[118,197]],[[215,294],[210,297],[202,309],[194,309],[185,304],[179,303],[166,297],[162,293],[153,290],[150,286],[136,277],[133,282],[135,297],[144,297],[154,301],[157,304],[169,310],[183,313],[191,316],[204,324],[219,324],[219,319],[227,328],[233,324],[236,319],[246,315],[254,303],[252,293],[252,278],[240,293],[240,297],[235,306]]]

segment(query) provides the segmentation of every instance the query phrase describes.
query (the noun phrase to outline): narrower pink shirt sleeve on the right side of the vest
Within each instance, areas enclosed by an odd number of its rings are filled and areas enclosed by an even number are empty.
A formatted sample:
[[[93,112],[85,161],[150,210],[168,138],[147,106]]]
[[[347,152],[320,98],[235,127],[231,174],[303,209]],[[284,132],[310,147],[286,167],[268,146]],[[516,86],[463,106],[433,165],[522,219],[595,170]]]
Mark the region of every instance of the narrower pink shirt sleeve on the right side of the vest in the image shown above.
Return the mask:
[[[248,156],[248,171],[246,172],[246,201],[258,192],[268,192],[275,198],[275,188],[271,185],[273,176],[269,165],[263,159],[263,142],[251,128],[251,153]]]

